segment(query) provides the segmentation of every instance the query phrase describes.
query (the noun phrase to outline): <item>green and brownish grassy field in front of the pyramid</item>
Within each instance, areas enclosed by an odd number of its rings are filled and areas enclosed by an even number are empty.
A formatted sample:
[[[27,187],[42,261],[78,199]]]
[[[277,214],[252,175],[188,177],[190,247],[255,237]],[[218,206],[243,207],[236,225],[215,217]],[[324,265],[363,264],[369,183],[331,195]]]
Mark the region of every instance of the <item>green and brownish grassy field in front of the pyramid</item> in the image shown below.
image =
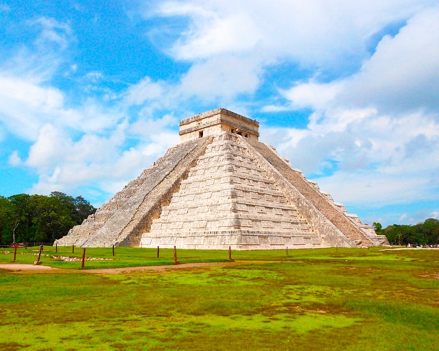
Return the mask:
[[[0,269],[0,350],[439,350],[439,250],[45,247],[56,273]],[[17,263],[36,261],[37,247]],[[0,263],[13,250],[0,249]],[[52,256],[52,257],[51,257]]]

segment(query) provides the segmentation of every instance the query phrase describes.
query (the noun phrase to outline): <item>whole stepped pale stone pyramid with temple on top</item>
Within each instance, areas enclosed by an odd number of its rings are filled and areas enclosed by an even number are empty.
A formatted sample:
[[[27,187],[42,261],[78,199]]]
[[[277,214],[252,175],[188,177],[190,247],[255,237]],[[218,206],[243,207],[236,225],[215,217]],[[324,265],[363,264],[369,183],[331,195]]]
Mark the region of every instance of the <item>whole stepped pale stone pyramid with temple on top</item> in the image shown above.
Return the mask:
[[[58,245],[266,250],[388,244],[260,143],[257,121],[217,108],[180,121],[179,134],[178,145]]]

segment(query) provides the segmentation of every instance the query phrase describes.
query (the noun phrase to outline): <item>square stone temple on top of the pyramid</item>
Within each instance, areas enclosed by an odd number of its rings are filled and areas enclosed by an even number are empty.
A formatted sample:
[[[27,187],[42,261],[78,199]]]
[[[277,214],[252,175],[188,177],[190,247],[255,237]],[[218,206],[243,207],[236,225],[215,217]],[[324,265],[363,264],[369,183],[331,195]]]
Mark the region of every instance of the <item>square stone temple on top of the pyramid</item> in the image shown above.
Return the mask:
[[[219,132],[230,132],[253,140],[259,139],[259,122],[225,108],[195,114],[180,121],[180,143],[204,138]]]

